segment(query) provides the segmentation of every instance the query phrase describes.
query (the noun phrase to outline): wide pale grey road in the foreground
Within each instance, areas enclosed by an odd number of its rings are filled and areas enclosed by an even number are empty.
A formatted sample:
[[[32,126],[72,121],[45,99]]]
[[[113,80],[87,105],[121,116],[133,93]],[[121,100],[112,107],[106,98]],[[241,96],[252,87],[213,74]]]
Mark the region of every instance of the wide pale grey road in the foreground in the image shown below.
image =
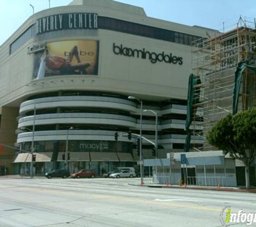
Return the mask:
[[[0,178],[0,227],[217,227],[227,206],[256,212],[256,194],[128,185],[139,181]]]

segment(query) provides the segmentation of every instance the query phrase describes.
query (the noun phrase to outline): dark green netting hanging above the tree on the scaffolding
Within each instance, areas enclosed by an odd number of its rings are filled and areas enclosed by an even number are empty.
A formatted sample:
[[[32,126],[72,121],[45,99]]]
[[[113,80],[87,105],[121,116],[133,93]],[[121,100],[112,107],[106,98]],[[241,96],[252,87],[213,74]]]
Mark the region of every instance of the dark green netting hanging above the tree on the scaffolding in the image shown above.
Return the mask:
[[[246,68],[250,68],[254,72],[256,72],[256,67],[249,65],[248,61],[241,61],[238,63],[237,69],[235,72],[235,79],[234,79],[233,109],[232,109],[233,115],[237,113],[241,79],[243,76],[243,72]]]

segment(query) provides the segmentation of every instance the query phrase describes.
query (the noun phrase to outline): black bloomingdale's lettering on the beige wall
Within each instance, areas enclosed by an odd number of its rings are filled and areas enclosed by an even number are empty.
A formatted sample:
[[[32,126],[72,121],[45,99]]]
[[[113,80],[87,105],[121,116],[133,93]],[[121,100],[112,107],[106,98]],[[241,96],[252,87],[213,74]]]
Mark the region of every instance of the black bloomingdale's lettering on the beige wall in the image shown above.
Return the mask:
[[[155,53],[155,52],[149,52],[146,51],[145,48],[143,49],[132,49],[129,47],[123,47],[123,45],[121,44],[120,46],[115,45],[115,43],[113,43],[113,52],[117,55],[123,55],[123,56],[129,56],[129,57],[135,57],[137,56],[137,58],[142,58],[142,59],[149,59],[151,63],[156,63],[157,61],[164,61],[166,63],[172,63],[172,64],[179,64],[182,65],[183,64],[183,59],[181,56],[175,56],[172,55],[172,53],[170,54],[166,54],[164,53],[164,51],[162,53]]]

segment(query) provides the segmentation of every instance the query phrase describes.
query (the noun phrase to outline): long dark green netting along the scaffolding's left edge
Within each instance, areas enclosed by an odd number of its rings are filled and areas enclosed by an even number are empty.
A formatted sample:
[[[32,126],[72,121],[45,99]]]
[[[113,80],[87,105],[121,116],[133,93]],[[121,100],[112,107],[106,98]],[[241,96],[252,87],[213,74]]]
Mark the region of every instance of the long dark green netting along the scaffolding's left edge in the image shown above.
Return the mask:
[[[193,114],[196,113],[196,110],[192,109],[192,105],[196,104],[196,103],[199,103],[200,90],[195,89],[195,86],[199,83],[201,83],[199,77],[191,73],[190,76],[189,76],[188,104],[187,104],[187,107],[186,107],[185,131],[188,133],[188,136],[186,137],[186,142],[185,142],[185,146],[184,146],[184,151],[185,152],[189,151],[190,139],[191,139],[189,126],[192,122]]]

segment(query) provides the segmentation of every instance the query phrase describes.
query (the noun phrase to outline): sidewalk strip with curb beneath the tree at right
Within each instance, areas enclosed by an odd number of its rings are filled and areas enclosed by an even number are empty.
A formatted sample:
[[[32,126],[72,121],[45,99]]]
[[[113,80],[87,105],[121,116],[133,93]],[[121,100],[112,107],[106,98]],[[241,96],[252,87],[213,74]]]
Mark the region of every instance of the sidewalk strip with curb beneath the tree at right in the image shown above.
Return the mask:
[[[128,183],[128,185],[132,186],[141,186],[139,184],[132,184]],[[251,188],[250,190],[246,190],[245,188],[239,187],[206,187],[206,186],[195,186],[195,185],[188,185],[188,186],[178,186],[178,185],[162,185],[162,184],[144,184],[142,187],[149,187],[149,188],[169,188],[169,189],[193,189],[193,190],[212,190],[212,191],[236,191],[236,192],[243,192],[243,193],[256,193],[256,188]]]

